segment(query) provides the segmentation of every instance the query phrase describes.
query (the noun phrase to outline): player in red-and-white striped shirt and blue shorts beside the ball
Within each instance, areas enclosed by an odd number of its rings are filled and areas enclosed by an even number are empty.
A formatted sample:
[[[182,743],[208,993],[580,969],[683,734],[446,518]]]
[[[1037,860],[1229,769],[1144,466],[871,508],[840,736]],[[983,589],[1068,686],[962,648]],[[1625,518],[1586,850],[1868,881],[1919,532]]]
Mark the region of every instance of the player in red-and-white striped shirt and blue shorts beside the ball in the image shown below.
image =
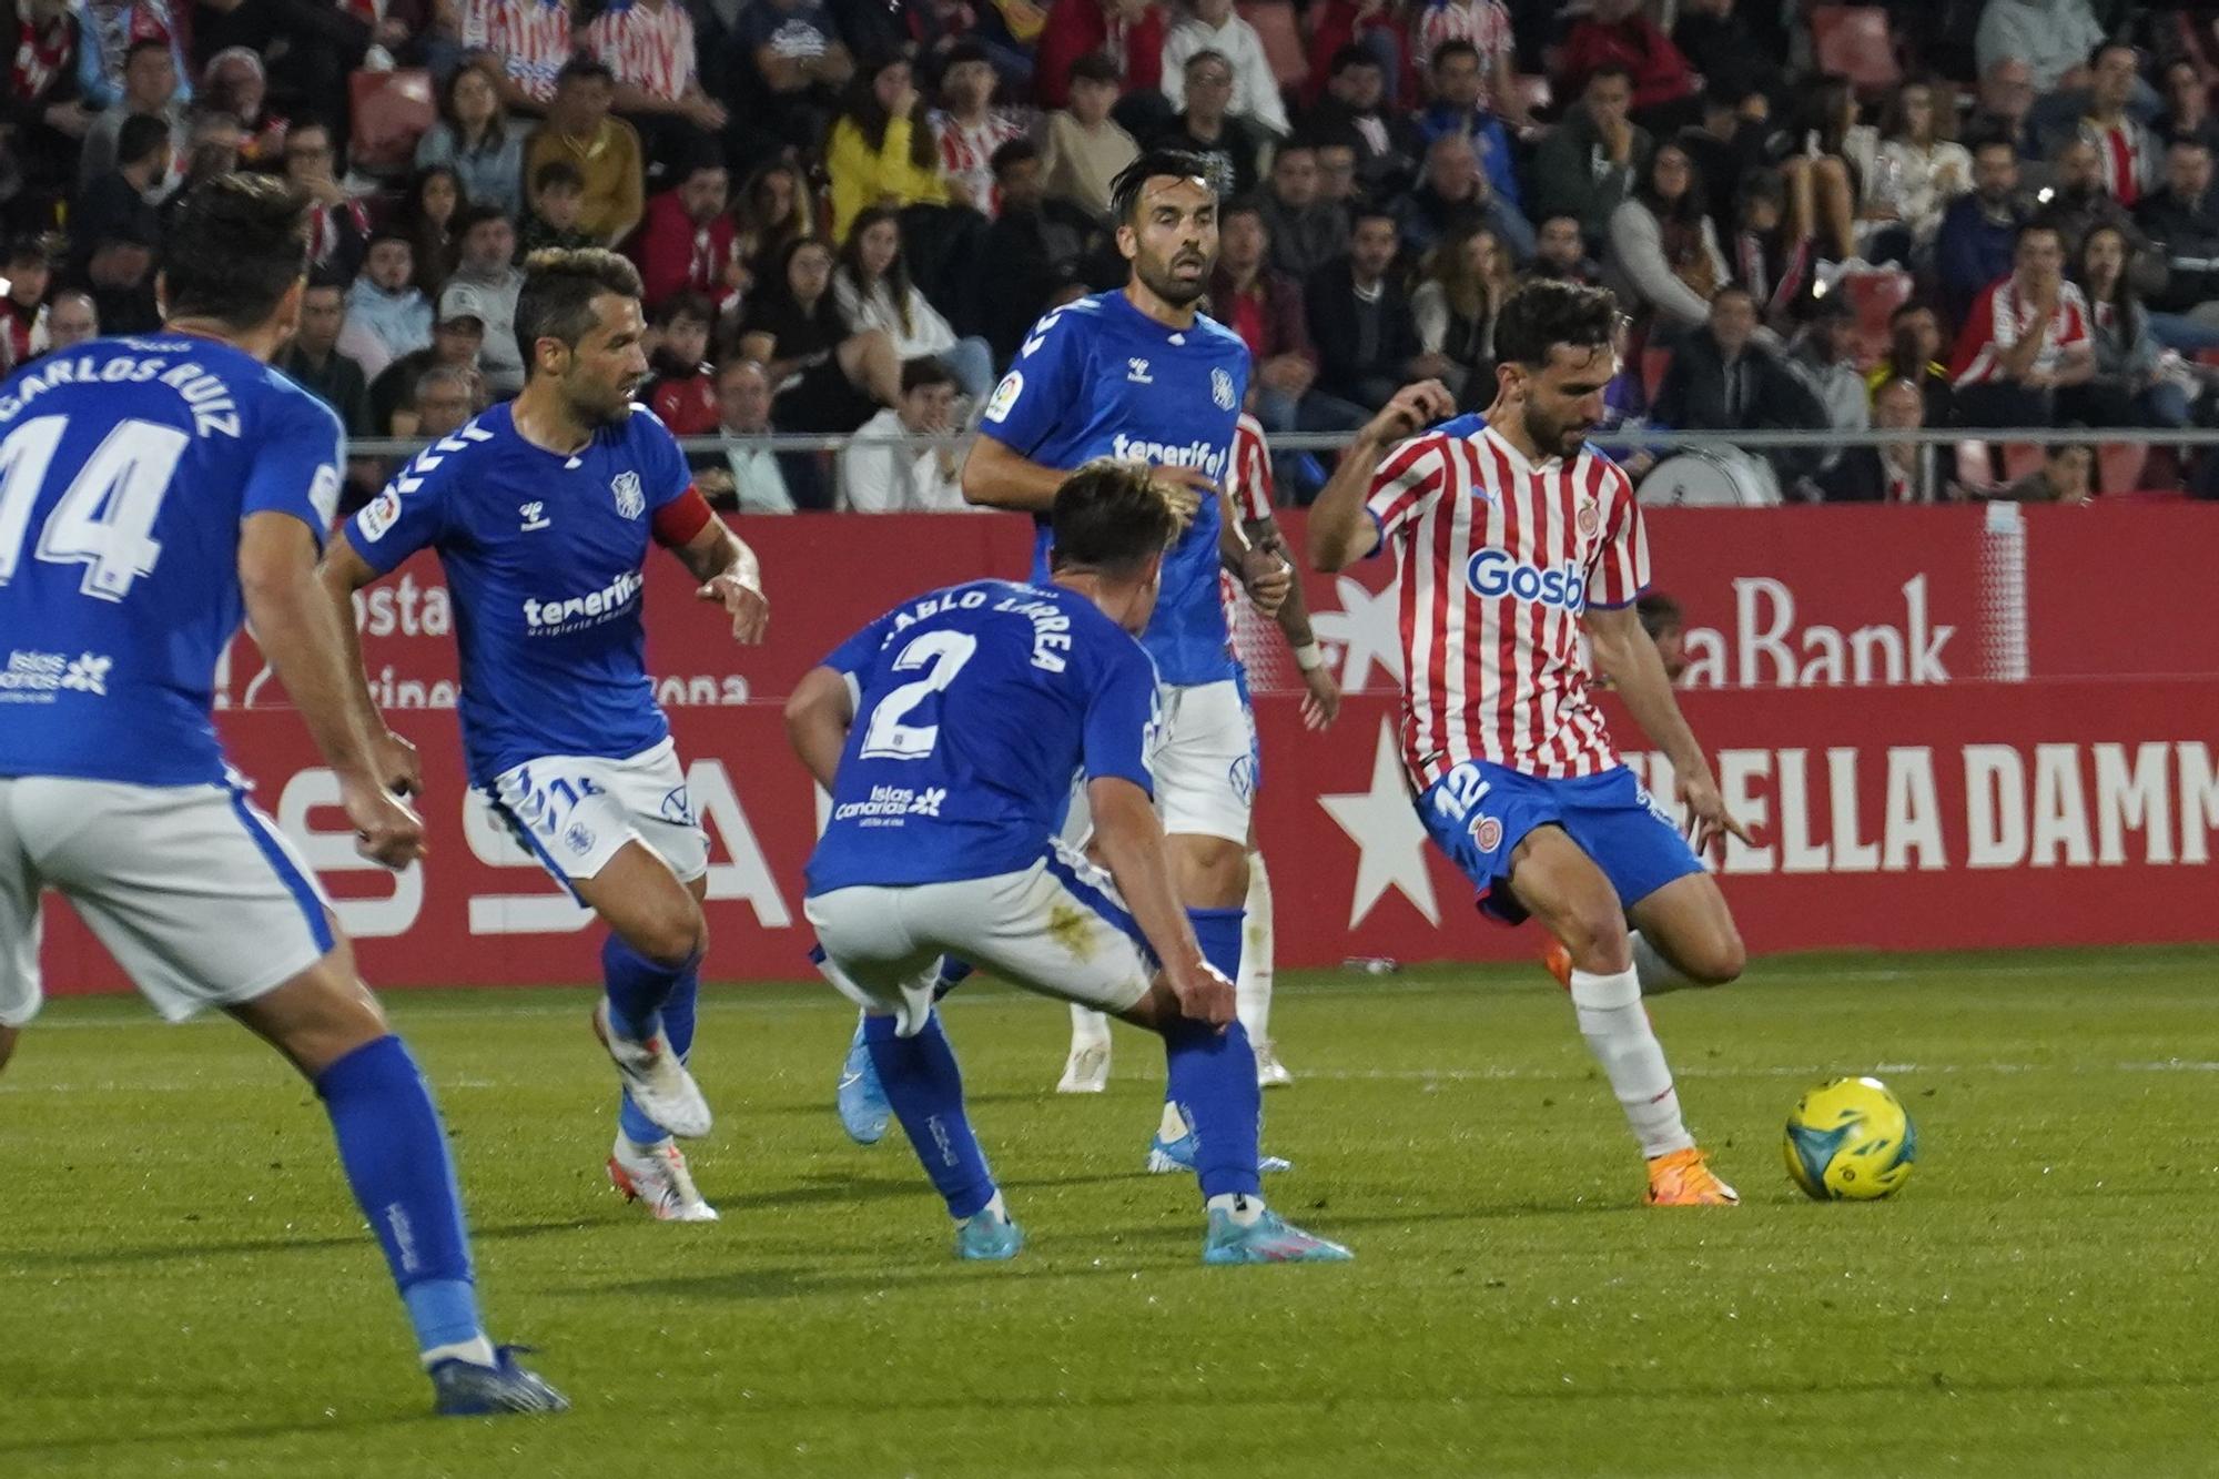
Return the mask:
[[[1733,1204],[1680,1117],[1642,993],[1740,975],[1740,933],[1695,848],[1749,833],[1633,608],[1649,584],[1633,484],[1587,446],[1615,329],[1607,291],[1520,286],[1496,320],[1487,415],[1414,437],[1453,409],[1449,393],[1396,395],[1311,509],[1309,555],[1338,571],[1394,551],[1418,817],[1482,910],[1538,917],[1564,946],[1580,1033],[1649,1159],[1649,1201]],[[1593,671],[1671,757],[1695,846],[1611,748],[1582,633]]]

